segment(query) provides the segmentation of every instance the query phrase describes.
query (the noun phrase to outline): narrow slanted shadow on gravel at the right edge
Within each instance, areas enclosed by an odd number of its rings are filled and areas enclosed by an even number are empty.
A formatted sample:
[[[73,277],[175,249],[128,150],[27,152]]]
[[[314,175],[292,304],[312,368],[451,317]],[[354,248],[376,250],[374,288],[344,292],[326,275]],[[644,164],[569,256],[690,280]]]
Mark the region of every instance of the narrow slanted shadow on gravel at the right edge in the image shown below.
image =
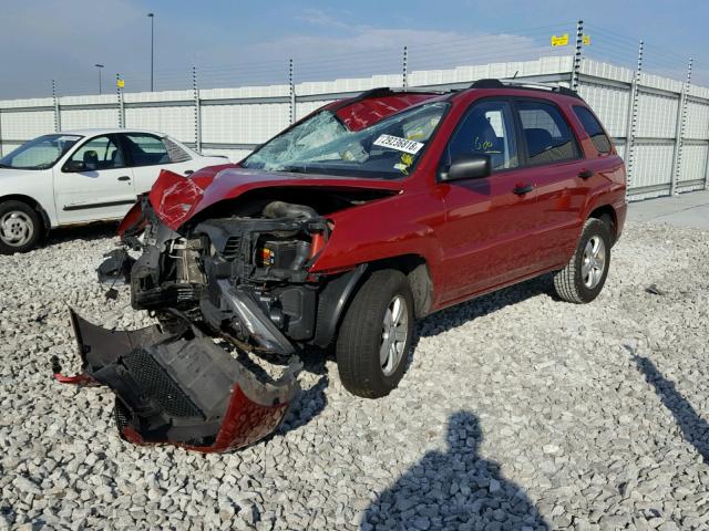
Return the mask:
[[[633,355],[633,360],[645,375],[646,382],[655,388],[662,405],[675,417],[685,440],[709,464],[709,423],[699,416],[689,400],[677,391],[675,383],[667,379],[651,361],[637,354]]]

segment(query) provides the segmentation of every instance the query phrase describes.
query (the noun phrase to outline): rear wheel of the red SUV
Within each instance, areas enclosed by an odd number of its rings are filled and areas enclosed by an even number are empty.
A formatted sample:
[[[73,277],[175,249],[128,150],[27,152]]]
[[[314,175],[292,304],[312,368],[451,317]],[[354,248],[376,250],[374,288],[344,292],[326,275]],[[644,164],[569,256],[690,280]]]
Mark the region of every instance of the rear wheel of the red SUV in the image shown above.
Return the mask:
[[[606,223],[596,218],[586,220],[574,256],[554,274],[554,289],[561,299],[585,304],[598,296],[610,266],[610,240]]]

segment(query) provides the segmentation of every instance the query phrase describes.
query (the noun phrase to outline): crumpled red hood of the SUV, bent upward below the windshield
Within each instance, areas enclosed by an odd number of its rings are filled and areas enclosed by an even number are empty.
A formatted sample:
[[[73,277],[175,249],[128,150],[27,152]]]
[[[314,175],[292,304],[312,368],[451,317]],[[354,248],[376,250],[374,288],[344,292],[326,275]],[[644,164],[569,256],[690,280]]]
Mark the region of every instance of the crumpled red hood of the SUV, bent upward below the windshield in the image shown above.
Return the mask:
[[[401,181],[361,177],[290,174],[235,167],[213,166],[196,171],[191,178],[162,170],[150,192],[155,214],[173,230],[204,209],[234,199],[258,188],[317,187],[328,189],[370,189],[400,191]]]

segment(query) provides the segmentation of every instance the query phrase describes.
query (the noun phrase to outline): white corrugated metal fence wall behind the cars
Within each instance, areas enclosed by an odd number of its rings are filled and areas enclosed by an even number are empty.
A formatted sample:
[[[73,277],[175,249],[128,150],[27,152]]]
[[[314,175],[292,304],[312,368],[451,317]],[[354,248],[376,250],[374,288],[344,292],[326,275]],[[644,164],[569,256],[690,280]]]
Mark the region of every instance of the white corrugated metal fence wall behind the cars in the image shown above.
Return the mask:
[[[410,87],[460,88],[483,77],[569,86],[574,59],[414,71]],[[706,189],[709,184],[709,88],[584,59],[578,91],[614,137],[628,166],[630,199]],[[0,101],[0,154],[35,136],[86,127],[147,128],[205,154],[239,160],[258,144],[320,105],[401,74],[153,93],[114,93]]]

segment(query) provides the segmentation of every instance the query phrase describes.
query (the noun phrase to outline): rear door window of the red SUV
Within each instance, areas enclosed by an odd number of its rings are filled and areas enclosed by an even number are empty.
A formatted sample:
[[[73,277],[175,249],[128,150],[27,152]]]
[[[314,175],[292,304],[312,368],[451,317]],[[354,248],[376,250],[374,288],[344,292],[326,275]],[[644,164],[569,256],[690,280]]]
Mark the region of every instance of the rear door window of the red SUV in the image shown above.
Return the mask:
[[[579,152],[562,112],[551,103],[517,102],[530,164],[551,164],[578,158]]]

